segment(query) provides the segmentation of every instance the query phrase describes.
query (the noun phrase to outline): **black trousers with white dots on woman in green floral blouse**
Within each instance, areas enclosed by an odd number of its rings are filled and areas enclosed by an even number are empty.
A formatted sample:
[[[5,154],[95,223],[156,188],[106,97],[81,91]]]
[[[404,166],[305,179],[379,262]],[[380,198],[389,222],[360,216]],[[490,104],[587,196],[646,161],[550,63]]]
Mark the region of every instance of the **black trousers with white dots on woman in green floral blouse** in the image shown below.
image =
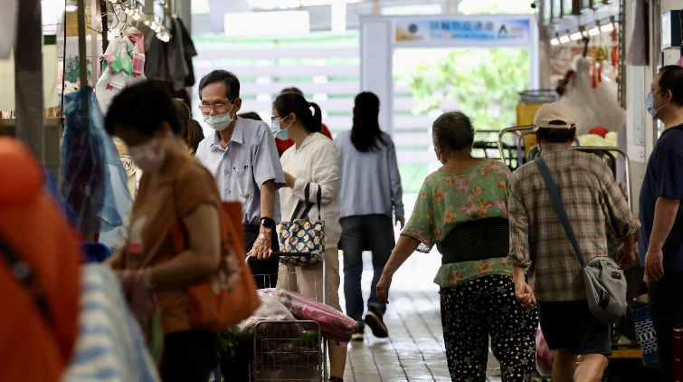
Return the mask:
[[[531,380],[538,316],[517,302],[511,277],[482,276],[441,289],[441,325],[453,382],[486,381],[489,336],[503,382]]]

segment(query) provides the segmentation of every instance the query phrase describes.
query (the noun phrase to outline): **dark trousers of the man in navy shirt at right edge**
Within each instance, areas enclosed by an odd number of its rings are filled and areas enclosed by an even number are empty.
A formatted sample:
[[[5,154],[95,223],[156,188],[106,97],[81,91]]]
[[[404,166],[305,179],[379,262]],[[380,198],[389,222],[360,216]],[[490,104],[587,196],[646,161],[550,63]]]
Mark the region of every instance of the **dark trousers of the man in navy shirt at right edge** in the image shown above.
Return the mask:
[[[673,330],[683,328],[683,272],[665,272],[652,282],[650,315],[657,338],[661,380],[673,381]]]

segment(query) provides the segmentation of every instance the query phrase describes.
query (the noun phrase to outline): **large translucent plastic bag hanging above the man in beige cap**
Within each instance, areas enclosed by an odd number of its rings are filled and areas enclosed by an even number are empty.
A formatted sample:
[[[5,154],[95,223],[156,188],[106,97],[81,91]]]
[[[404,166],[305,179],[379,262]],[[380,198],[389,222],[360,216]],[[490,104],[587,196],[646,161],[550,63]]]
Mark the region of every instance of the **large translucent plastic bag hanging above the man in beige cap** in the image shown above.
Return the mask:
[[[597,87],[593,89],[591,63],[582,55],[574,57],[572,66],[576,73],[567,84],[560,103],[571,106],[576,113],[576,134],[587,134],[598,126],[610,131],[624,129],[626,110],[619,106],[617,84],[608,82],[606,76],[602,76],[602,82],[597,82]]]

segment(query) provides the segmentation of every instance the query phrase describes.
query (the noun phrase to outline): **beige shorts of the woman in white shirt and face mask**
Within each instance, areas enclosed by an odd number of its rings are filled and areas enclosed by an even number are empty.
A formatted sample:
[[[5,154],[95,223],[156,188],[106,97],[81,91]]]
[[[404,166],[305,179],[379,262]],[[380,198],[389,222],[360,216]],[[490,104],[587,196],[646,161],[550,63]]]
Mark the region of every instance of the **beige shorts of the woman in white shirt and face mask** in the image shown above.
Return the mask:
[[[339,305],[339,252],[337,248],[327,248],[324,253],[327,268],[327,293],[325,303],[343,312]],[[323,301],[323,263],[295,267],[280,263],[278,288],[297,291],[316,301]]]

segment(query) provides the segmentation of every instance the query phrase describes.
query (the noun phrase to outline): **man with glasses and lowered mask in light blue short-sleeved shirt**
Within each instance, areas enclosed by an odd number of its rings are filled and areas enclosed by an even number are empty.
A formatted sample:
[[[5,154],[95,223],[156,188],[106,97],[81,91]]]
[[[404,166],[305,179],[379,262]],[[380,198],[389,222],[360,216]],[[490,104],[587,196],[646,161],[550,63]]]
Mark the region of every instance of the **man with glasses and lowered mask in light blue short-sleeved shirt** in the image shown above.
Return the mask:
[[[278,149],[263,121],[242,119],[240,81],[232,72],[213,71],[199,82],[204,122],[215,129],[199,144],[196,158],[216,180],[225,202],[242,203],[242,224],[249,264],[259,288],[275,287],[279,259],[276,223],[285,185]]]

